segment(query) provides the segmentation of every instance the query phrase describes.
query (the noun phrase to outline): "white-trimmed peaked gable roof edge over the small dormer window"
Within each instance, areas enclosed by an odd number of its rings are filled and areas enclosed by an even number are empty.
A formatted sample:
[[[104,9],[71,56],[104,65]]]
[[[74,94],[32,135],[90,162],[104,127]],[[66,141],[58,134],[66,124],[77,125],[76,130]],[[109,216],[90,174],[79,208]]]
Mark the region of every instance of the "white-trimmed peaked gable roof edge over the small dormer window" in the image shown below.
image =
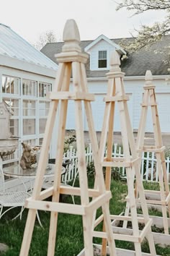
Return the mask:
[[[99,43],[100,40],[105,40],[111,46],[115,47],[116,50],[118,52],[120,52],[121,55],[126,54],[126,52],[120,46],[118,46],[114,41],[107,38],[105,35],[99,35],[97,39],[92,41],[92,43],[90,43],[88,46],[86,46],[86,48],[84,48],[84,51],[88,52],[93,46],[95,46],[97,43]]]

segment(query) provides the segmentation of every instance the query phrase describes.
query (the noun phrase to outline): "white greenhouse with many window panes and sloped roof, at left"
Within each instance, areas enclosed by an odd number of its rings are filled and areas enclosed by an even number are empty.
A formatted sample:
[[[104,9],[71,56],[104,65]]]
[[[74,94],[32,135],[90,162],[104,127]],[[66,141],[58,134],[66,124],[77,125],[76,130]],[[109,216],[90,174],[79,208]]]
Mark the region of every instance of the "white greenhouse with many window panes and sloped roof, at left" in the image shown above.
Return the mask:
[[[58,65],[37,51],[10,27],[0,24],[0,102],[13,115],[10,132],[19,136],[18,150],[4,163],[19,161],[21,142],[41,145],[50,108],[46,93],[53,87]],[[52,140],[51,151],[55,146]]]

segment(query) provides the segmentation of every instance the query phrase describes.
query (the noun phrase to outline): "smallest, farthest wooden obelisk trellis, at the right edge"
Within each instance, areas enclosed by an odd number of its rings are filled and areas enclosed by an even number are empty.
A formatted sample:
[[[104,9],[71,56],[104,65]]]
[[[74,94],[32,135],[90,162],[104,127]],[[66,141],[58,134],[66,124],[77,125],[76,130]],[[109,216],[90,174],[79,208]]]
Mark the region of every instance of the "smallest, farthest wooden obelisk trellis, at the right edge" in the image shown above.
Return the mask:
[[[167,217],[167,210],[170,216],[170,192],[169,192],[169,181],[166,172],[166,161],[164,155],[164,145],[161,138],[161,127],[158,118],[158,107],[156,103],[155,86],[153,85],[153,77],[151,71],[146,72],[146,85],[143,86],[144,95],[142,103],[142,111],[140,116],[140,124],[138,129],[138,137],[136,141],[136,148],[138,154],[141,155],[142,152],[154,152],[157,160],[158,168],[158,182],[159,191],[155,190],[145,190],[146,194],[150,194],[151,199],[147,199],[148,205],[161,205],[163,222],[164,222],[164,233],[169,234],[169,218]],[[153,122],[153,135],[155,140],[155,145],[144,145],[144,136],[146,129],[146,117],[148,114],[148,108],[151,107],[152,122]],[[138,191],[138,187],[136,187]],[[154,197],[156,195],[156,197]],[[152,197],[154,197],[152,199]]]

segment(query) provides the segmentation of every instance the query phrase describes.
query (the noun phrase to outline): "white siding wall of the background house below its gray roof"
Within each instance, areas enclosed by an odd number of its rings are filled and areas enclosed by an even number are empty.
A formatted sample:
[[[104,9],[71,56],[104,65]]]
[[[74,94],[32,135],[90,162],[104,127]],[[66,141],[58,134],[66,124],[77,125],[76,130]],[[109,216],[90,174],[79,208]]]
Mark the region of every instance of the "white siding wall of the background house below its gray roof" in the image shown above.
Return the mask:
[[[169,132],[170,127],[170,108],[168,107],[170,99],[170,87],[165,80],[153,80],[153,84],[156,85],[156,101],[158,102],[158,114],[161,124],[161,132]],[[129,95],[128,111],[130,114],[130,121],[133,130],[138,130],[141,103],[143,101],[143,85],[145,80],[124,80],[125,93]],[[107,93],[107,77],[103,81],[89,81],[88,82],[89,93],[94,93],[95,101],[91,101],[92,114],[94,118],[94,127],[97,132],[102,131],[102,122],[104,118],[105,103],[103,98]],[[68,119],[66,123],[66,129],[75,129],[75,110],[74,103],[70,101],[68,103]],[[84,109],[84,108],[83,108]],[[86,122],[86,115],[83,111],[84,131],[88,131],[88,124]],[[120,118],[117,103],[115,106],[115,132],[120,132]],[[151,109],[148,108],[146,132],[153,132],[153,124],[151,121]]]

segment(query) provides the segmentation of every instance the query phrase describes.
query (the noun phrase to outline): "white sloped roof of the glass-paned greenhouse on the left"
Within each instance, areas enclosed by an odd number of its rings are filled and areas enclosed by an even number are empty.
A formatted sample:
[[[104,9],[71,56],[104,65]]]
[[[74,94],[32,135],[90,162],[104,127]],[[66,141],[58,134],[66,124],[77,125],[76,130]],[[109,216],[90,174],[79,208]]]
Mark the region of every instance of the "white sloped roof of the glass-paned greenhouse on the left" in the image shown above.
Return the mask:
[[[3,24],[0,24],[0,55],[1,57],[4,56],[9,59],[22,61],[22,65],[27,63],[45,69],[58,69],[58,65],[45,56],[45,54],[42,54],[42,52],[38,51],[10,27]],[[23,66],[23,69],[25,70],[26,67]]]

